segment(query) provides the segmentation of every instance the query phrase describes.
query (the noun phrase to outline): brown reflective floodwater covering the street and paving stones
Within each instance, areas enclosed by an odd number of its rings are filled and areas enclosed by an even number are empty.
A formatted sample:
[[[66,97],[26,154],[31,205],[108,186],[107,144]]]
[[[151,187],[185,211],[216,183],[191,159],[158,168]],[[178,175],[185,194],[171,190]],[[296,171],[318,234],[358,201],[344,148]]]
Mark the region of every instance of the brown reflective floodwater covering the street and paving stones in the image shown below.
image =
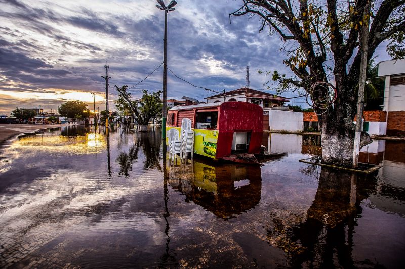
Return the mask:
[[[160,136],[68,126],[3,146],[0,267],[403,267],[405,143],[363,149],[383,165],[365,176],[298,162],[317,136],[265,134],[261,167],[170,164]]]

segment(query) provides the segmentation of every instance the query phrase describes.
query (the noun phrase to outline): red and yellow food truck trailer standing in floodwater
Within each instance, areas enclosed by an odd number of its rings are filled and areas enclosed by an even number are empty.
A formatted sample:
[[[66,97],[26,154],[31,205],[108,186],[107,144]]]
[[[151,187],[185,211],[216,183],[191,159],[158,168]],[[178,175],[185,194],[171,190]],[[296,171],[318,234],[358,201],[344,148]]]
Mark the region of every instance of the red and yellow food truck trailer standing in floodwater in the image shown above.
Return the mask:
[[[263,136],[263,109],[248,102],[177,106],[168,110],[166,133],[181,129],[189,118],[194,130],[194,153],[213,159],[256,154]]]

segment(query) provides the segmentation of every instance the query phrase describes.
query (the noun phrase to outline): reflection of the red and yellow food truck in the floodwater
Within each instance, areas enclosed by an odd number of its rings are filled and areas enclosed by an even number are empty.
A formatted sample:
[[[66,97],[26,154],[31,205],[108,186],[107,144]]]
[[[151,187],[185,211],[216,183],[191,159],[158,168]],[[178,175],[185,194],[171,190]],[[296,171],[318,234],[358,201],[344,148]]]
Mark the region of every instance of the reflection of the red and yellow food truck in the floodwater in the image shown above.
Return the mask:
[[[192,201],[225,220],[260,202],[260,166],[207,162],[194,159],[167,166],[170,185],[185,194],[186,202]]]

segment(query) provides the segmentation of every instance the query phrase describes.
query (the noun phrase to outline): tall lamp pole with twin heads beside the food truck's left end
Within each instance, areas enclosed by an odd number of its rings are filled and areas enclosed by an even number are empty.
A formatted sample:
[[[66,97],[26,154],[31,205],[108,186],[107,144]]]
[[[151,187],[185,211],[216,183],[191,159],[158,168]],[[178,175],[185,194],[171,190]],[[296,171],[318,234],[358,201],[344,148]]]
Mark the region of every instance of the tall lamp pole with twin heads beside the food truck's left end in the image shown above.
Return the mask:
[[[165,3],[163,2],[163,0],[157,0],[157,3],[159,3],[160,6],[156,5],[156,7],[160,10],[165,11],[165,36],[163,39],[164,48],[163,48],[163,96],[162,96],[162,108],[161,108],[161,116],[162,116],[161,117],[161,138],[166,139],[168,12],[176,10],[173,7],[177,4],[177,1],[172,0],[167,7],[166,7]]]

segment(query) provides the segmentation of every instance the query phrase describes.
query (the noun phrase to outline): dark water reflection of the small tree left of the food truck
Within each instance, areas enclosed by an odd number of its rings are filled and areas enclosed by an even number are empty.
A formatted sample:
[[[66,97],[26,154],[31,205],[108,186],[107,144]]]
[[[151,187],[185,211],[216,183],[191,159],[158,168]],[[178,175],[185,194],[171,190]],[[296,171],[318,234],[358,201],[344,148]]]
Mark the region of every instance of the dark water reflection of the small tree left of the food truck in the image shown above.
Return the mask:
[[[119,175],[129,177],[129,171],[132,170],[132,163],[138,159],[138,153],[142,149],[145,157],[143,170],[161,167],[161,137],[159,132],[139,132],[135,133],[135,143],[129,149],[128,153],[120,152],[116,162],[120,165]]]

